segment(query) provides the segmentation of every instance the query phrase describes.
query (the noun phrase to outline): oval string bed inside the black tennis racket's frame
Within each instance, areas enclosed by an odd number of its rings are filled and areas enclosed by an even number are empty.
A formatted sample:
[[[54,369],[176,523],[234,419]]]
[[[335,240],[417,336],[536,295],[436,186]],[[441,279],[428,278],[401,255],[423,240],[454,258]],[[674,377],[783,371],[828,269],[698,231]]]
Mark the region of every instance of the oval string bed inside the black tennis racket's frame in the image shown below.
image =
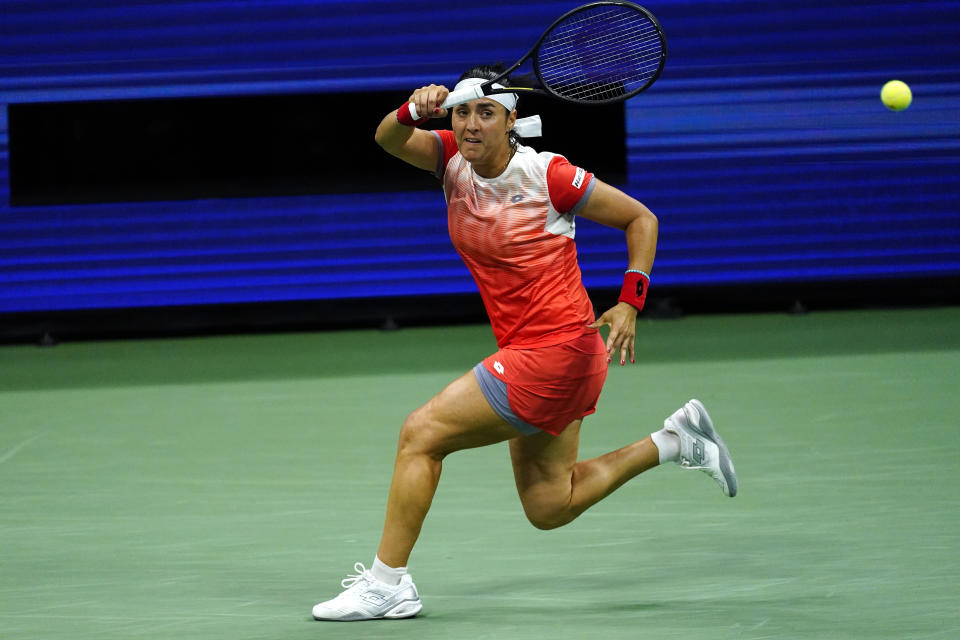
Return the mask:
[[[654,78],[663,57],[658,27],[642,12],[598,7],[555,25],[538,50],[544,84],[586,102],[626,95]]]

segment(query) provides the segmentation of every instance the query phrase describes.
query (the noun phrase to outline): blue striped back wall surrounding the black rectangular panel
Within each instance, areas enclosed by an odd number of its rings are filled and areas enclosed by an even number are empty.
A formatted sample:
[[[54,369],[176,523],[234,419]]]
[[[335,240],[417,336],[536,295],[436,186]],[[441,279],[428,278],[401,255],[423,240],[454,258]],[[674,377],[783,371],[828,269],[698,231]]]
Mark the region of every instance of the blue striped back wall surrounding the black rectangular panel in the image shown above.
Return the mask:
[[[574,4],[3,0],[0,105],[449,85]],[[661,221],[654,286],[960,275],[960,2],[647,6],[671,57],[621,186]],[[0,109],[0,313],[474,291],[439,189],[11,207],[8,141]],[[578,247],[619,286],[620,234],[581,221]]]

